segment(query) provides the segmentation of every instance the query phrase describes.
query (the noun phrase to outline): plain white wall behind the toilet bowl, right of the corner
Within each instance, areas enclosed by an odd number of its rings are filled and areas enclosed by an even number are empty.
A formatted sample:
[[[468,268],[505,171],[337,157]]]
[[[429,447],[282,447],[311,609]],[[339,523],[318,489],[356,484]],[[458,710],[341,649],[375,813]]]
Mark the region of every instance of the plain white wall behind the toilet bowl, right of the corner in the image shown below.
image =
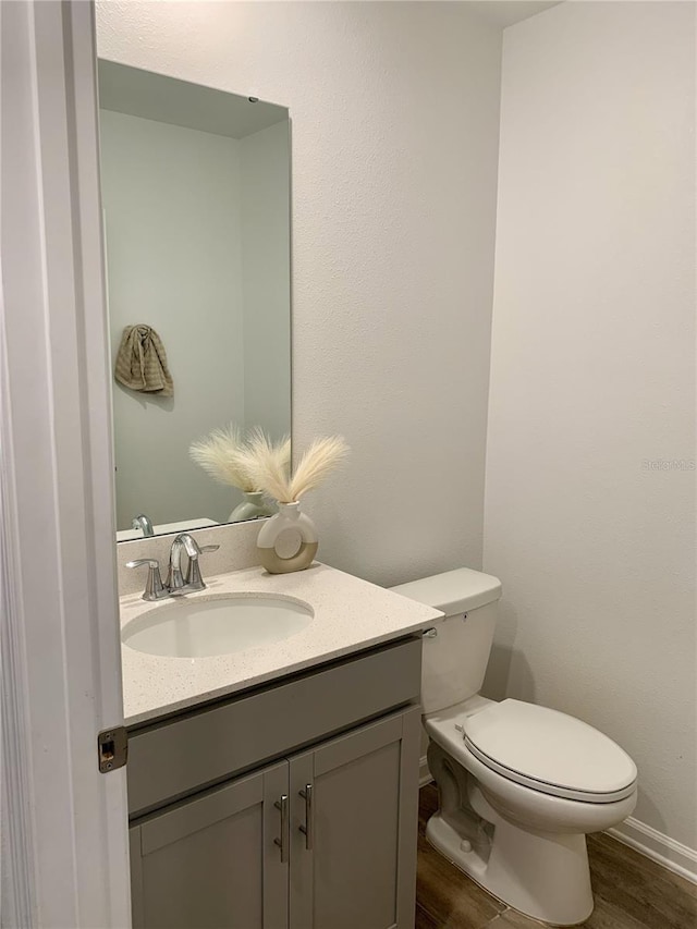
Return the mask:
[[[620,742],[635,817],[692,848],[694,17],[563,3],[504,34],[485,531],[488,693]]]

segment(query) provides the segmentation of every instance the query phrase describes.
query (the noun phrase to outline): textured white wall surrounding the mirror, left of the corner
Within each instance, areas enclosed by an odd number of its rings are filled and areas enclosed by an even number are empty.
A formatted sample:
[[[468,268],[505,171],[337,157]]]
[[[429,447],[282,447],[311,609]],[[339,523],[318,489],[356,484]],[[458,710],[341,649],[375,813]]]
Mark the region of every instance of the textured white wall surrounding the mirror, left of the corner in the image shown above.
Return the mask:
[[[108,59],[290,107],[296,448],[320,558],[481,563],[500,30],[460,3],[99,2]]]

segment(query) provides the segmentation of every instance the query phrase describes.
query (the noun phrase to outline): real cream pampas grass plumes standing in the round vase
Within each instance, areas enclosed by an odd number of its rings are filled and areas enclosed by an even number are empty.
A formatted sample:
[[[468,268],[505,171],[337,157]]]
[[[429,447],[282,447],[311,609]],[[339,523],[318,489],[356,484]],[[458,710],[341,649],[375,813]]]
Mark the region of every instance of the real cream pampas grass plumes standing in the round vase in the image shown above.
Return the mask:
[[[315,439],[291,476],[267,436],[257,429],[249,439],[249,473],[261,490],[279,503],[293,503],[320,485],[333,468],[348,454],[348,445],[341,436]]]

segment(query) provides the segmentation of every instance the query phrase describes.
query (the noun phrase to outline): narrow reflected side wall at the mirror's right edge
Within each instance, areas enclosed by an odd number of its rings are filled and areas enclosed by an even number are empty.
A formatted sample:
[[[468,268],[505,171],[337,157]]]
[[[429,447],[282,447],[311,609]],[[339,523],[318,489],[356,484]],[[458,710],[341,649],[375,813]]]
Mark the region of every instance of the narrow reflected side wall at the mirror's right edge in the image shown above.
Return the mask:
[[[291,423],[290,125],[240,139],[244,410],[279,439]]]

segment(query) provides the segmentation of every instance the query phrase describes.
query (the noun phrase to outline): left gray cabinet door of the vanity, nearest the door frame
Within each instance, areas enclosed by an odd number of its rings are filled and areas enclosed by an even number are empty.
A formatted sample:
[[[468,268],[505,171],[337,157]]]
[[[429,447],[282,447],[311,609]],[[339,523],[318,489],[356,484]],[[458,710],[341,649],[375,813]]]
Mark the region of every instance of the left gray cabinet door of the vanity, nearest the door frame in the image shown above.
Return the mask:
[[[288,929],[284,795],[286,761],[134,826],[134,929]]]

